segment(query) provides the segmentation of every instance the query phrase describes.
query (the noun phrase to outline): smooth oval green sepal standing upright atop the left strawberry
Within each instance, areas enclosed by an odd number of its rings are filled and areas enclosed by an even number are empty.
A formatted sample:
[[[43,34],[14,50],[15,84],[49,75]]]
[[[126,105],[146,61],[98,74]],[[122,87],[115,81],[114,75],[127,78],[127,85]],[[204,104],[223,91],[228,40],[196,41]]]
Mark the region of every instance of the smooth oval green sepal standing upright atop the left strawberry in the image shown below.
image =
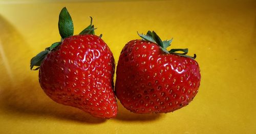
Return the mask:
[[[74,34],[73,21],[66,7],[62,8],[59,13],[58,27],[62,39]]]

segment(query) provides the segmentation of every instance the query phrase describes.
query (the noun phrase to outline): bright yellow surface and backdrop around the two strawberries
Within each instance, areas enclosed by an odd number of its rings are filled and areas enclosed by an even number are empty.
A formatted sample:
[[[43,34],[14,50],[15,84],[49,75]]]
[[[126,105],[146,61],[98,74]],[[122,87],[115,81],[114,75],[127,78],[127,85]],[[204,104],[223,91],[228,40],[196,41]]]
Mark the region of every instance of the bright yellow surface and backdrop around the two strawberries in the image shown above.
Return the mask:
[[[197,54],[201,86],[174,113],[136,115],[118,104],[101,120],[53,102],[41,90],[31,57],[60,39],[66,6],[75,33],[94,17],[116,62],[136,34],[174,37],[174,48]],[[256,2],[254,1],[0,1],[0,133],[256,133]]]

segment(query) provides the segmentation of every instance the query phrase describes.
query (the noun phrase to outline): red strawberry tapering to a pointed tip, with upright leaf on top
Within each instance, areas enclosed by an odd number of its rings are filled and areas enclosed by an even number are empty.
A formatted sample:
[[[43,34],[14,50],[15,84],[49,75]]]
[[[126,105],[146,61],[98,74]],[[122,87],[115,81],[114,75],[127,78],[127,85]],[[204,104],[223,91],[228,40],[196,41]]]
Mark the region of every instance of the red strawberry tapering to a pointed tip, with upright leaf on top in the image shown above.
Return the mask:
[[[106,43],[88,26],[73,35],[73,23],[66,8],[59,15],[61,42],[31,59],[39,66],[39,82],[54,101],[77,107],[99,118],[117,114],[114,95],[114,57]]]

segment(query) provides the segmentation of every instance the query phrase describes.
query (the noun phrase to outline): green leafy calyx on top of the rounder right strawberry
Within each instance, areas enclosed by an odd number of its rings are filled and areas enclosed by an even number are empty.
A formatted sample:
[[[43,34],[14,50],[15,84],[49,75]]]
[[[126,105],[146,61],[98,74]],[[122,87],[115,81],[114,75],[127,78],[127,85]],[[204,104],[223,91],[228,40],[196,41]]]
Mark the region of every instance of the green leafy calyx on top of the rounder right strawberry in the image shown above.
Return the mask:
[[[137,32],[138,33],[138,32]],[[188,53],[188,49],[171,49],[170,51],[167,51],[166,48],[170,46],[170,44],[173,41],[173,38],[170,40],[164,40],[162,41],[161,38],[156,34],[156,32],[154,31],[147,31],[146,35],[144,34],[139,34],[138,35],[146,41],[150,41],[153,43],[158,44],[158,46],[161,47],[161,49],[165,52],[165,53],[169,53],[169,54],[176,54],[179,56],[183,56],[183,57],[188,57],[188,58],[192,58],[195,59],[196,58],[196,54],[194,54],[193,57],[191,56],[187,56],[186,54]],[[178,53],[178,52],[183,52],[183,53]]]

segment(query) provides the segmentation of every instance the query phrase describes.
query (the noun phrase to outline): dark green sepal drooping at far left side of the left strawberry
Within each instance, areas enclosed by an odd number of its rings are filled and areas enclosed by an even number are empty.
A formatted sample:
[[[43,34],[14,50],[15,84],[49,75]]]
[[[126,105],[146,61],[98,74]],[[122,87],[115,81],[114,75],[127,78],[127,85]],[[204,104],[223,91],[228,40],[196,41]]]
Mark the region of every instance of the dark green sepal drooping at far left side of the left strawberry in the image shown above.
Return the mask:
[[[48,53],[49,53],[49,51],[47,51],[47,50],[42,51],[39,54],[37,54],[35,57],[33,57],[30,60],[30,70],[32,70],[34,66],[40,66],[42,60],[45,59],[45,57],[47,56]],[[37,69],[35,69],[35,70],[37,70]]]

